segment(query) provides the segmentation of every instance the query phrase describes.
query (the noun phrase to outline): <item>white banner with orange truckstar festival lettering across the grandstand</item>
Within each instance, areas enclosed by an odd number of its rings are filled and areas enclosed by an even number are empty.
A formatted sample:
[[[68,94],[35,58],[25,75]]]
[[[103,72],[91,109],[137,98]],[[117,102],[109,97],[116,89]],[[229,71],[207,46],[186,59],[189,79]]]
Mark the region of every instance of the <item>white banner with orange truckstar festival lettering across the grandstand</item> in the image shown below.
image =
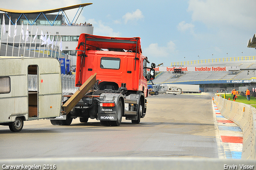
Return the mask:
[[[175,69],[181,69],[182,72],[184,71],[199,71],[199,72],[211,72],[211,71],[229,71],[231,67],[165,67],[159,66],[155,68],[156,72],[174,72]]]

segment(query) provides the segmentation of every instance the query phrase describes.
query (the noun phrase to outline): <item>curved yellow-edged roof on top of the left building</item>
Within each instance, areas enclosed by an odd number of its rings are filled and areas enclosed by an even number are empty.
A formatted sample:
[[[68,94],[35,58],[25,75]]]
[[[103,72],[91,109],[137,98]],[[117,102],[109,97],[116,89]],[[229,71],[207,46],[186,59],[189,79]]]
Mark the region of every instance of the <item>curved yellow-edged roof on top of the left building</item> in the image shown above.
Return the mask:
[[[0,11],[3,12],[7,12],[7,13],[40,13],[43,12],[44,14],[50,14],[50,13],[54,13],[54,12],[59,12],[60,10],[70,10],[70,9],[74,9],[74,8],[79,8],[79,7],[84,7],[84,6],[88,6],[91,5],[92,3],[86,3],[86,4],[78,4],[78,5],[73,5],[73,6],[67,6],[64,8],[56,8],[56,9],[50,9],[50,10],[10,10],[10,9],[4,9],[4,8],[0,8]]]

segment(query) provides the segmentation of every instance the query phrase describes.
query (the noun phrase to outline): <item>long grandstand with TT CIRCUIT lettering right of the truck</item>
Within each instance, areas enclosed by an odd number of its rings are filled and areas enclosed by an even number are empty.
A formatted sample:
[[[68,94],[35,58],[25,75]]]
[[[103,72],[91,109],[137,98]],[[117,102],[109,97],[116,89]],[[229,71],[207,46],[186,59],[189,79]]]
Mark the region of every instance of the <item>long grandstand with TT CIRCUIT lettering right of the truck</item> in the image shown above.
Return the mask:
[[[154,84],[200,84],[201,91],[216,92],[248,86],[256,82],[256,58],[236,57],[172,63],[171,67],[227,67],[226,71],[156,72]],[[161,70],[161,69],[160,69]]]

